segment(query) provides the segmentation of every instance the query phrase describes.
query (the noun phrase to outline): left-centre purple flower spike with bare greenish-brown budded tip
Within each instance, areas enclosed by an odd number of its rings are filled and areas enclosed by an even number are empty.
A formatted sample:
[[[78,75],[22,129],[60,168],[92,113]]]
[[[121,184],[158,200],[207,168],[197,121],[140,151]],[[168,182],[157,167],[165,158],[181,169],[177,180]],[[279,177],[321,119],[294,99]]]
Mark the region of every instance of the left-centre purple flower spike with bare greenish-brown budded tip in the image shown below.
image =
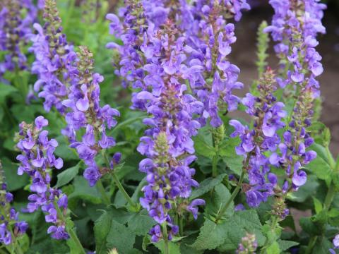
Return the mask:
[[[79,49],[76,82],[69,87],[68,99],[62,102],[70,109],[66,114],[68,125],[62,132],[69,138],[71,147],[76,148],[79,157],[88,166],[84,177],[90,186],[94,186],[109,170],[98,167],[95,157],[101,150],[115,145],[114,138],[107,136],[106,131],[107,128],[111,129],[117,124],[115,117],[119,116],[119,111],[108,104],[100,107],[99,84],[104,78],[99,73],[93,73],[93,54],[86,47]],[[76,132],[81,128],[85,130],[85,135],[78,142]],[[114,163],[117,162],[113,160]]]

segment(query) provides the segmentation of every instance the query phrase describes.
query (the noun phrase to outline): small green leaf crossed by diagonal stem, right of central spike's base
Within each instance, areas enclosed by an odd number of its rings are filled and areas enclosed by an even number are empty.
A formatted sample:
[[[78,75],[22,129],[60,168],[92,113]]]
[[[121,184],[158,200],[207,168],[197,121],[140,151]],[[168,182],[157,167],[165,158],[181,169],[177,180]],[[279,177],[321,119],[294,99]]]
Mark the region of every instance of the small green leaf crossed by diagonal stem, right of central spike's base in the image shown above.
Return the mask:
[[[215,215],[220,212],[220,209],[225,203],[230,199],[230,191],[224,186],[222,183],[218,184],[218,186],[215,186],[213,195],[211,198],[206,200],[206,214],[212,215],[212,217],[215,217]],[[223,214],[225,217],[232,216],[234,212],[234,202],[232,201],[230,206],[227,208],[227,211],[225,214]]]

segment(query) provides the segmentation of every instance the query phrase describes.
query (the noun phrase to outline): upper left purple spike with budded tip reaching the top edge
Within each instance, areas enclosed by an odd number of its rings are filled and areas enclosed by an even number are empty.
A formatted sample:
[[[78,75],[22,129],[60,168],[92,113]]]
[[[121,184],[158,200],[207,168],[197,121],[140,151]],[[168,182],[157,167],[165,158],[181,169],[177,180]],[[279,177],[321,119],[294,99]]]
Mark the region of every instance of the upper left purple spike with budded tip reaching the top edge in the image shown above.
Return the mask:
[[[61,103],[67,97],[68,89],[73,83],[76,72],[76,53],[69,45],[66,35],[62,33],[61,18],[55,0],[46,0],[44,4],[44,27],[35,23],[37,35],[32,37],[31,52],[35,54],[32,73],[38,80],[34,85],[35,92],[44,98],[44,109],[55,107],[61,114],[65,107]]]

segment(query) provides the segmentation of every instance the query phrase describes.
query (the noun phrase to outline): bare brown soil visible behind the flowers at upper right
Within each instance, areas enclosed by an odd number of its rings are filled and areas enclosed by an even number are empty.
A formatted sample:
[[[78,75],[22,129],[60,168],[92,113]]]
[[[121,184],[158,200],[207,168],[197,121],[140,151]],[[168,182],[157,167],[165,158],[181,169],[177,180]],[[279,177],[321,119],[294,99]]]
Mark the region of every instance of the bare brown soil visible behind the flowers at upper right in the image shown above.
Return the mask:
[[[336,156],[339,152],[339,16],[331,8],[325,12],[323,24],[326,26],[326,35],[319,36],[317,50],[323,56],[324,72],[319,77],[321,83],[322,115],[321,121],[331,129],[331,151]],[[237,42],[233,44],[230,61],[240,69],[239,80],[245,85],[244,93],[251,82],[257,78],[256,72],[256,30],[262,20],[271,21],[273,10],[262,4],[251,11],[244,13],[242,20],[236,24]],[[270,50],[273,42],[270,43]],[[271,56],[274,55],[270,54]],[[268,59],[270,66],[276,66],[276,59]],[[244,94],[243,94],[244,95]]]

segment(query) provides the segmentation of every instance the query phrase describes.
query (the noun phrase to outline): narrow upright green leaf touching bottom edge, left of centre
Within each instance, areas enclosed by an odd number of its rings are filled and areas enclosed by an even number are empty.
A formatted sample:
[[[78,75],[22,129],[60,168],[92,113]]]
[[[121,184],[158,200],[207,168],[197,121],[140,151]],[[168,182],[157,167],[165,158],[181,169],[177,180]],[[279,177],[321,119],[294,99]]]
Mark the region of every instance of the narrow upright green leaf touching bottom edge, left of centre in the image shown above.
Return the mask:
[[[95,251],[97,254],[106,254],[106,238],[111,229],[112,217],[108,212],[104,212],[94,224]]]

